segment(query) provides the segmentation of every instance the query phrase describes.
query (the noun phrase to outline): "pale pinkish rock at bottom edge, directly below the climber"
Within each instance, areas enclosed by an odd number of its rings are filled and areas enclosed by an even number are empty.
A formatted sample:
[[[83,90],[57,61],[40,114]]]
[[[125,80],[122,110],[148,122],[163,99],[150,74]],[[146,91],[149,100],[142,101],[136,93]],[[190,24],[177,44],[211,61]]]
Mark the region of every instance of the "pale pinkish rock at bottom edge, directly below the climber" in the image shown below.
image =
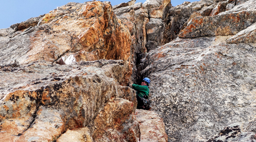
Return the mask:
[[[154,111],[136,109],[136,117],[140,128],[140,142],[167,142],[163,118]]]

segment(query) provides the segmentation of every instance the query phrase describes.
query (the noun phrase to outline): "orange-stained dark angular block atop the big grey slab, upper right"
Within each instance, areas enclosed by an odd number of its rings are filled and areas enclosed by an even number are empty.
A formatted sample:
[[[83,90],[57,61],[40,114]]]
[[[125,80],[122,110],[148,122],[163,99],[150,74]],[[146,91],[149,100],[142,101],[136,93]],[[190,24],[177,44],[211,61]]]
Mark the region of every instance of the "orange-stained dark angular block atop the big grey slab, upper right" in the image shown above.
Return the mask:
[[[214,17],[193,18],[179,37],[192,38],[215,35],[236,35],[256,22],[256,11],[242,11]]]

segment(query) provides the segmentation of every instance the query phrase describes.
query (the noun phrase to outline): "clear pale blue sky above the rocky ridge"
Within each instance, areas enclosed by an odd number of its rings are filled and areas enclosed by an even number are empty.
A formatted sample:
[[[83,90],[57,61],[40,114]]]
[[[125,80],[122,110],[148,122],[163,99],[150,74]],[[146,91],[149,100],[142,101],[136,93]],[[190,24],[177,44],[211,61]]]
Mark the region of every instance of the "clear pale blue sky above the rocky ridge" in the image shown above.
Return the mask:
[[[37,17],[65,5],[68,2],[83,3],[91,0],[0,0],[0,29],[8,28],[12,24],[26,21],[29,18]],[[101,0],[110,1],[112,5],[117,5],[129,0]],[[136,0],[144,3],[146,0]],[[173,6],[182,4],[184,1],[199,0],[171,0]]]

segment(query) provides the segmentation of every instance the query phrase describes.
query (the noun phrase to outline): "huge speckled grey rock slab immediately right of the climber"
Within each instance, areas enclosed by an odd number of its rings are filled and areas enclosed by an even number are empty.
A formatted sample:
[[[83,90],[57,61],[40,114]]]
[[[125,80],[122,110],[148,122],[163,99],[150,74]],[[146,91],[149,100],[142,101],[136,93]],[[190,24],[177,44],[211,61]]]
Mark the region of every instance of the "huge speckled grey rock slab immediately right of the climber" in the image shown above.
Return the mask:
[[[143,59],[152,108],[170,142],[205,142],[256,115],[256,44],[227,44],[230,36],[176,39]]]

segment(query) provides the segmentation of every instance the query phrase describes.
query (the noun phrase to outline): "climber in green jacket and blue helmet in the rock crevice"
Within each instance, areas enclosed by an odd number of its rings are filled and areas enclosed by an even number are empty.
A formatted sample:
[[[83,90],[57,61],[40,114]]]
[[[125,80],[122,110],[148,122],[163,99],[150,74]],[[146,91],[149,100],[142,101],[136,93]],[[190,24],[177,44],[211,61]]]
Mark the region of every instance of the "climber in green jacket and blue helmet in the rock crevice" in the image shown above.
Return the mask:
[[[132,84],[130,85],[131,88],[137,90],[136,97],[137,97],[137,108],[138,109],[149,109],[151,101],[148,100],[149,89],[148,85],[150,83],[149,78],[144,78],[141,82],[141,85]]]

